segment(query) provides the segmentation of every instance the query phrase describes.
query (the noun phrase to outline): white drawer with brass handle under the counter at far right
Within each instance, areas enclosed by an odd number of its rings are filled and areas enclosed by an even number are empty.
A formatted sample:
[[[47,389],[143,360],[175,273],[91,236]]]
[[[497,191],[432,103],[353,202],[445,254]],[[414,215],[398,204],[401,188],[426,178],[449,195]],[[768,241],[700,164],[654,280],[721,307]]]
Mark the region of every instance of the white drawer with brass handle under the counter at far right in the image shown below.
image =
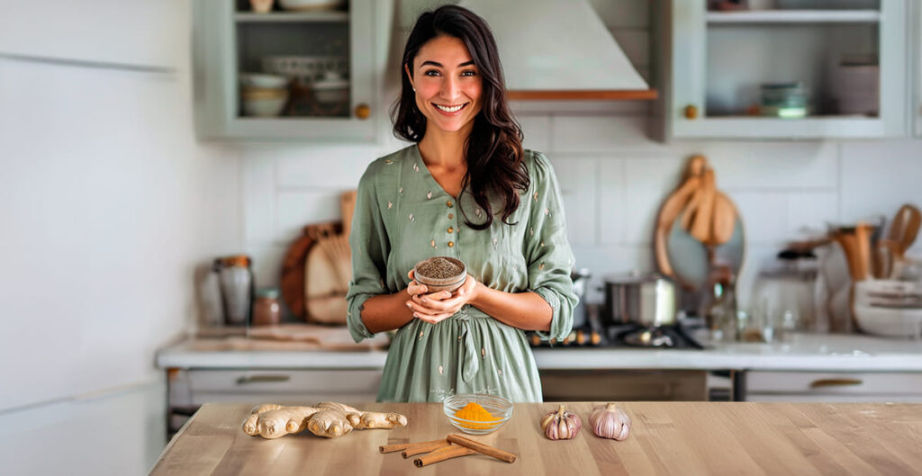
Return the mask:
[[[752,371],[745,400],[922,402],[922,373]]]

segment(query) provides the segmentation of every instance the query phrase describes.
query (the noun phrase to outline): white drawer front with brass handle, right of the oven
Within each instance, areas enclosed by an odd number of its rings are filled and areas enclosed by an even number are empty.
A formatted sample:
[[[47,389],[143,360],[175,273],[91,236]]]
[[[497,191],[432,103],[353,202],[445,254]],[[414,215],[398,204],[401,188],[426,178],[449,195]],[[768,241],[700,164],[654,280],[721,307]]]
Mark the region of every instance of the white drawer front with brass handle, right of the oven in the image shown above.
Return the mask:
[[[922,398],[922,373],[748,372],[746,389],[749,396],[905,395]]]

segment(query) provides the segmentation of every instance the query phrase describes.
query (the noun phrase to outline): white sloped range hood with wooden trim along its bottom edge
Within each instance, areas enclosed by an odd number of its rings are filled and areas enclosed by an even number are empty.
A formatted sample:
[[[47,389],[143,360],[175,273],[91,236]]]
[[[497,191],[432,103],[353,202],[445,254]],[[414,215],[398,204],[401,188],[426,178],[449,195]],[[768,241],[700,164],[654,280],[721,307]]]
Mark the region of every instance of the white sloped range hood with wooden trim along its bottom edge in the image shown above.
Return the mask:
[[[463,0],[496,38],[509,99],[656,99],[588,0]]]

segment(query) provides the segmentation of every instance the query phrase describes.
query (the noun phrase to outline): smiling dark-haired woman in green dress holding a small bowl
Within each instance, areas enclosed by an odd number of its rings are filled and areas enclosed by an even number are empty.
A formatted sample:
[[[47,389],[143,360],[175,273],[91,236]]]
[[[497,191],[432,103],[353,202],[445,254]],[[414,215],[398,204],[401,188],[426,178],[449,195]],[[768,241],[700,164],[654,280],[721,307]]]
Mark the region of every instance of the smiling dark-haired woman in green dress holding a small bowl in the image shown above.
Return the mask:
[[[352,337],[398,329],[378,401],[541,401],[524,331],[561,340],[576,305],[557,179],[522,149],[482,18],[458,6],[423,13],[402,76],[394,130],[416,144],[366,170],[349,237]],[[467,264],[455,293],[413,280],[431,256]]]

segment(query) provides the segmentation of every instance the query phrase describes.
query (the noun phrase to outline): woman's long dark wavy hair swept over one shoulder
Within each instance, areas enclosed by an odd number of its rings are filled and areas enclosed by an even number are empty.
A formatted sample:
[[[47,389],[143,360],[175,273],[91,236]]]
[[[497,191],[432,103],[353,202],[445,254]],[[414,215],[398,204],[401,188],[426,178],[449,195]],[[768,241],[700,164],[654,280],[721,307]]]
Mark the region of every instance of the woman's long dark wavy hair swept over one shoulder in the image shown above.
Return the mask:
[[[465,143],[467,173],[461,183],[461,190],[469,193],[474,201],[487,212],[487,221],[477,225],[464,214],[467,226],[482,230],[493,223],[493,214],[488,194],[495,193],[502,206],[502,223],[518,208],[518,191],[526,191],[529,185],[528,173],[523,163],[522,128],[515,122],[509,104],[506,102],[505,80],[502,77],[500,53],[487,22],[483,18],[460,6],[440,6],[425,12],[416,20],[404,47],[400,64],[400,97],[391,107],[394,135],[410,142],[419,143],[426,134],[426,116],[416,106],[416,96],[410,85],[404,67],[413,72],[413,60],[426,42],[439,36],[449,36],[464,41],[479,75],[483,81],[480,101],[482,107],[474,118],[474,126]],[[458,203],[460,208],[460,203]]]

